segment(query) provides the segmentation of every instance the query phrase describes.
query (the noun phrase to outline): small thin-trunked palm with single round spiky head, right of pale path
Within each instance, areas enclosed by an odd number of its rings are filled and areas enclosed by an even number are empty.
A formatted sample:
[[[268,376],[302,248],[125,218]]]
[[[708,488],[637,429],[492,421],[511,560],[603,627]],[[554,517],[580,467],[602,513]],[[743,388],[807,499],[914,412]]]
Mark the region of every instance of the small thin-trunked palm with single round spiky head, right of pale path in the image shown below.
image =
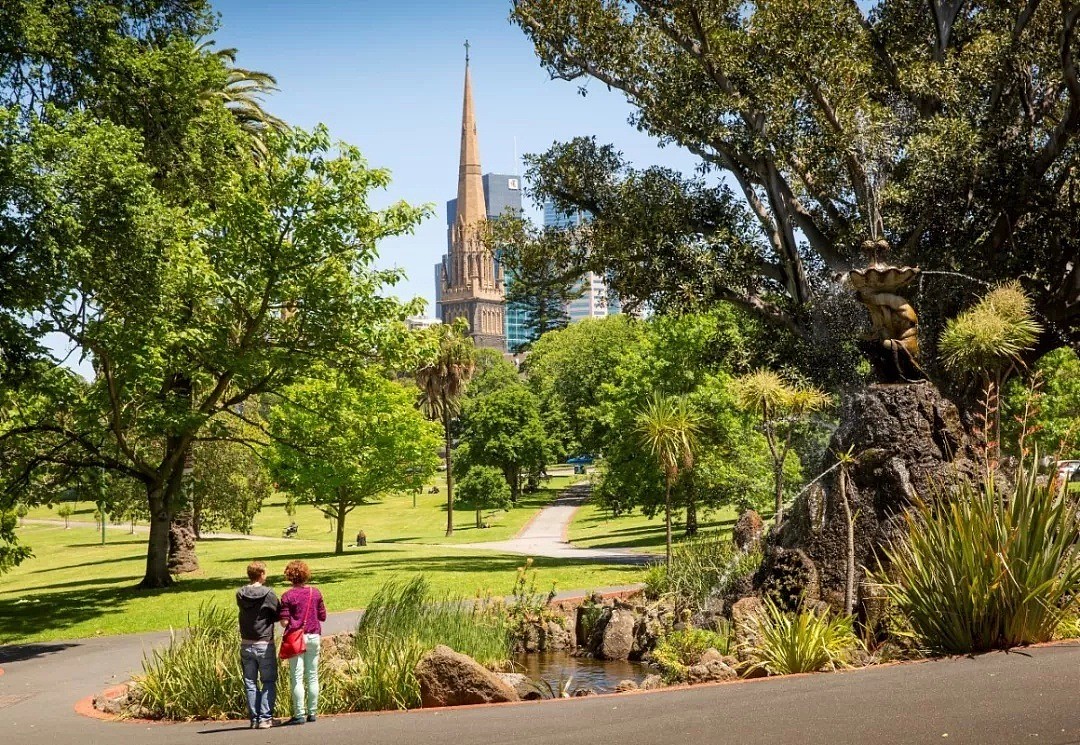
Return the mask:
[[[667,566],[672,563],[672,485],[684,469],[693,468],[701,418],[685,397],[653,394],[637,415],[642,445],[664,473],[664,529]]]

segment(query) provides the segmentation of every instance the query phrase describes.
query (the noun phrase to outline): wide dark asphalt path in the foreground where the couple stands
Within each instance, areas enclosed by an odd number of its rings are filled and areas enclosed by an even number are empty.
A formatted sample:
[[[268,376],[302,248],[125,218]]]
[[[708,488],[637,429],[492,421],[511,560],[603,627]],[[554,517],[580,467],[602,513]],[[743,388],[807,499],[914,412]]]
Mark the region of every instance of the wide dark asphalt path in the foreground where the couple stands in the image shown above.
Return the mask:
[[[351,614],[330,626],[347,627]],[[354,619],[354,614],[351,615]],[[1080,743],[1080,646],[1070,644],[814,676],[463,709],[243,722],[146,724],[77,715],[126,679],[162,635],[0,648],[4,745],[726,745]],[[221,736],[215,736],[221,735]]]

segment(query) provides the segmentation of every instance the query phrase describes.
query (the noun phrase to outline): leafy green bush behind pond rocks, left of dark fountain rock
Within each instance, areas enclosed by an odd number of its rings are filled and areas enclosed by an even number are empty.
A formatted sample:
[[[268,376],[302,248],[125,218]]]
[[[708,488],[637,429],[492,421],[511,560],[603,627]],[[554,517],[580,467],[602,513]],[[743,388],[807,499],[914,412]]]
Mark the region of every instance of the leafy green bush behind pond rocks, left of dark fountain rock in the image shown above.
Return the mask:
[[[706,533],[674,545],[670,567],[650,566],[645,575],[645,593],[651,598],[672,598],[676,610],[696,611],[710,595],[723,595],[760,564],[760,554],[744,554],[726,536]]]

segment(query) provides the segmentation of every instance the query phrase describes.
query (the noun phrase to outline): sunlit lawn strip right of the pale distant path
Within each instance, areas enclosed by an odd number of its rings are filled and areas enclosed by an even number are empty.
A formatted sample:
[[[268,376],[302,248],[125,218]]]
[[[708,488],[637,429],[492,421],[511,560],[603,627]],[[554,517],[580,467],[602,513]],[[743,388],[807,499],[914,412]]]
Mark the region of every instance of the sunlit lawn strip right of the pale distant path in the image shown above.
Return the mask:
[[[734,507],[723,507],[710,513],[698,512],[698,528],[730,531],[739,513]],[[672,515],[672,538],[684,534],[684,516]],[[633,548],[640,552],[663,553],[664,516],[658,513],[651,519],[639,512],[611,517],[610,510],[586,503],[573,516],[569,532],[570,543],[582,548]]]

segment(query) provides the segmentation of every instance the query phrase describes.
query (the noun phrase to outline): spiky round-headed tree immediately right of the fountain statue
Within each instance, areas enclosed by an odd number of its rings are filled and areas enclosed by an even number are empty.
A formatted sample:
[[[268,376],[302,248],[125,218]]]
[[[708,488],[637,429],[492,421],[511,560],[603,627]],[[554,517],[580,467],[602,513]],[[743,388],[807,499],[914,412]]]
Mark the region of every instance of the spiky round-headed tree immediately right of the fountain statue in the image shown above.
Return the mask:
[[[1018,282],[994,288],[974,308],[951,319],[942,333],[939,350],[945,368],[982,380],[983,401],[993,414],[987,416],[987,429],[995,430],[987,441],[995,444],[995,453],[1000,452],[1001,385],[1023,366],[1021,355],[1041,333],[1031,299]]]

